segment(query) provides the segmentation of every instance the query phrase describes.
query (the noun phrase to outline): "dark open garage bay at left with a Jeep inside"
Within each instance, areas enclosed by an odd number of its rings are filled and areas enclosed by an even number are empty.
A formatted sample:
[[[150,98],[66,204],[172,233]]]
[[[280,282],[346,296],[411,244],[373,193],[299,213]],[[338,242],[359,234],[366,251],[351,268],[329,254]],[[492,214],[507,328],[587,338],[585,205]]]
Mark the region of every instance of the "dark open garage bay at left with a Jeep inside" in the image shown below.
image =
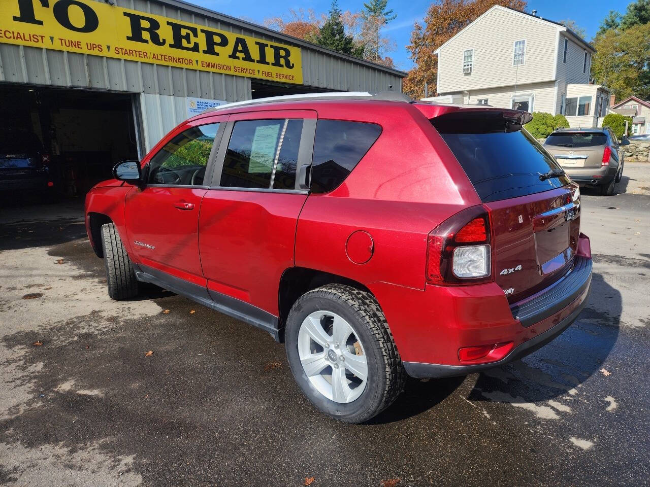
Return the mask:
[[[0,84],[0,188],[12,199],[39,193],[83,197],[137,159],[129,94]]]

